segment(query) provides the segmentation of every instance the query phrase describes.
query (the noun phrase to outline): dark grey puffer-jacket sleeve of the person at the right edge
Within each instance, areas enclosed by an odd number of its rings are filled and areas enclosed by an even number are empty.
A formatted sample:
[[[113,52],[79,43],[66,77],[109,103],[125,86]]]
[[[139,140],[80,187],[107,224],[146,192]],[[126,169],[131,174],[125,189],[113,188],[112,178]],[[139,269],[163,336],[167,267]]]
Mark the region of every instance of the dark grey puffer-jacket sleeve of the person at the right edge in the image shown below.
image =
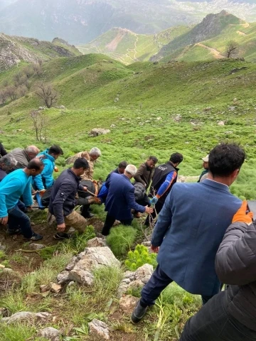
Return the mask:
[[[256,225],[234,222],[225,232],[215,259],[220,281],[245,286],[256,281]]]

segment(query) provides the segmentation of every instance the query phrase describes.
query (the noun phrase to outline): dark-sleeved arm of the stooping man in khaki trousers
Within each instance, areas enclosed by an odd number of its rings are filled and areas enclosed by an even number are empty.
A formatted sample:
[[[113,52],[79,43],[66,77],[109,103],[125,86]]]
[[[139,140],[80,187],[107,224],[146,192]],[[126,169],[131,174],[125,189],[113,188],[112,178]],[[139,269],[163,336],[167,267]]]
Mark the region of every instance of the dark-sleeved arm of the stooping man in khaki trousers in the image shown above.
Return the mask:
[[[64,224],[64,215],[63,215],[63,204],[70,193],[73,192],[73,184],[72,183],[63,183],[60,185],[58,193],[55,195],[53,200],[53,215],[56,219],[58,225]]]

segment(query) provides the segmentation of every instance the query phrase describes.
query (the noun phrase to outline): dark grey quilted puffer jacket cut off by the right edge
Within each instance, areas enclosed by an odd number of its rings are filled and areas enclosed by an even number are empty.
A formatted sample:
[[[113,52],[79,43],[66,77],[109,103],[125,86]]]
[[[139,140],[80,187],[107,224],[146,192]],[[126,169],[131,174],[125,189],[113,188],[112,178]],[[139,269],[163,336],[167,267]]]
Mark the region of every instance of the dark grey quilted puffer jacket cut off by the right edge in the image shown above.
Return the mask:
[[[215,259],[225,292],[225,309],[247,328],[256,331],[256,221],[235,222],[225,232]]]

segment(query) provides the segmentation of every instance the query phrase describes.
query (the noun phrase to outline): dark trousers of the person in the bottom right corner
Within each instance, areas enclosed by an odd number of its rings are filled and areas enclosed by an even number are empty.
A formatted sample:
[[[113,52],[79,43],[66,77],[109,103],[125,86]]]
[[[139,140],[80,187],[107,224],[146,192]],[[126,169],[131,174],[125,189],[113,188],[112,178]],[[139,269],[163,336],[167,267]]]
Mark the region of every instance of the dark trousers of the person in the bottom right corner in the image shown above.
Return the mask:
[[[256,332],[242,325],[226,310],[225,291],[215,295],[198,313],[190,318],[180,341],[249,341]]]

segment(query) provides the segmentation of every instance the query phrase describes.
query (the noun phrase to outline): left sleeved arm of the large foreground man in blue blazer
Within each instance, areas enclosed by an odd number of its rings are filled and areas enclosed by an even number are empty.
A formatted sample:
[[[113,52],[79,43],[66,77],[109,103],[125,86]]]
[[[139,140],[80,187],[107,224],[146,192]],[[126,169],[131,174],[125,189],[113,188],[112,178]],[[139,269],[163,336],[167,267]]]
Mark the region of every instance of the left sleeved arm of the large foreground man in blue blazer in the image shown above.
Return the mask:
[[[151,245],[154,247],[160,247],[161,243],[164,240],[164,236],[166,235],[167,230],[171,226],[172,219],[172,205],[173,205],[173,197],[174,197],[174,188],[169,193],[168,197],[164,202],[164,207],[161,209],[159,214],[159,218],[156,222],[156,226],[154,227],[154,232],[151,239]]]

